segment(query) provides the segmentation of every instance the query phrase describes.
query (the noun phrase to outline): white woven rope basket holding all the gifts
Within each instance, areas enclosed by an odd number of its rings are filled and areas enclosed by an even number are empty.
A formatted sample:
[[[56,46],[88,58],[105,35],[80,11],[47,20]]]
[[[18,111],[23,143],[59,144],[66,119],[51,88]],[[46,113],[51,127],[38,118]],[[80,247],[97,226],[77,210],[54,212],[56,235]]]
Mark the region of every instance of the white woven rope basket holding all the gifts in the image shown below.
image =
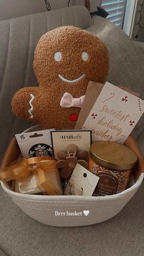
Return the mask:
[[[27,131],[32,131],[36,127]],[[100,197],[27,195],[13,192],[9,186],[2,182],[1,186],[13,202],[31,218],[46,225],[71,227],[92,225],[107,221],[107,219],[115,216],[137,192],[142,184],[143,177],[144,174],[141,174],[134,185],[120,194]],[[56,211],[65,213],[65,215],[56,216]],[[81,216],[68,216],[68,213],[74,213],[75,211],[80,213]],[[89,211],[87,216],[85,216],[84,211],[87,211],[87,213]]]

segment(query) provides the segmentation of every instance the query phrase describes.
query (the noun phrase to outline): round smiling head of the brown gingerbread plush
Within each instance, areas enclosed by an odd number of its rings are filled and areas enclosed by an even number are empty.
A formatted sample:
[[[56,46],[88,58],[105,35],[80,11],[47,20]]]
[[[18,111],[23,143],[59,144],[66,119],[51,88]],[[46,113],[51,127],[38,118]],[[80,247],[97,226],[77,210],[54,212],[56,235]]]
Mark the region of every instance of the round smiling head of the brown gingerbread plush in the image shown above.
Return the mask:
[[[108,65],[103,42],[76,27],[59,27],[46,33],[35,49],[35,74],[45,88],[52,88],[53,83],[65,90],[65,83],[72,87],[77,82],[77,87],[84,88],[90,80],[104,82]]]

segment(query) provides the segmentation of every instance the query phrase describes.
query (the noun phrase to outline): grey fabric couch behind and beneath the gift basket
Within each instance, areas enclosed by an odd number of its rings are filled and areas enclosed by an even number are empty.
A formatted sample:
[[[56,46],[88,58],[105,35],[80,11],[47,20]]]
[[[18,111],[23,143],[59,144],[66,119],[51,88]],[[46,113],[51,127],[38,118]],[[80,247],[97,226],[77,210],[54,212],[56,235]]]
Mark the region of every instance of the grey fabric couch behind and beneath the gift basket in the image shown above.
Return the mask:
[[[37,13],[0,22],[1,158],[15,133],[32,125],[15,117],[10,101],[16,90],[36,85],[34,49],[42,34],[57,26],[74,25],[93,32],[109,49],[107,81],[140,92],[143,97],[144,53],[109,21],[93,20],[84,7]],[[144,151],[143,119],[134,136]],[[114,218],[88,227],[57,228],[34,221],[6,196],[0,186],[0,255],[144,255],[143,185]]]

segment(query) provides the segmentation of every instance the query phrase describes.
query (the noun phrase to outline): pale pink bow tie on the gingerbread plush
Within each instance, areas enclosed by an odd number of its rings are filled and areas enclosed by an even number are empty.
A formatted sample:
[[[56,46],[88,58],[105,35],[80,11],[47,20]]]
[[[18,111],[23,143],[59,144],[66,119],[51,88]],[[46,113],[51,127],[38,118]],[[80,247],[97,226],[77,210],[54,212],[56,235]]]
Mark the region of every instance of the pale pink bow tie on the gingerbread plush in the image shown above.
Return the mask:
[[[70,93],[65,92],[60,100],[60,106],[62,108],[81,108],[84,97],[85,95],[81,96],[80,98],[73,98],[73,96]]]

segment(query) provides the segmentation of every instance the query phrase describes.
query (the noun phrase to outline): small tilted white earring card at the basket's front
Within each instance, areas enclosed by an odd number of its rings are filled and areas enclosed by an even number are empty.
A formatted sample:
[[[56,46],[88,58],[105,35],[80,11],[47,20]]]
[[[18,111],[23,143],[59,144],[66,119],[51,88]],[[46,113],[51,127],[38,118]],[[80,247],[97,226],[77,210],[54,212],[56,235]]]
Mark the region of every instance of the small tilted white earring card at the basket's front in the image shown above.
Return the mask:
[[[76,164],[64,194],[67,196],[92,196],[98,181],[99,177],[80,164]]]

